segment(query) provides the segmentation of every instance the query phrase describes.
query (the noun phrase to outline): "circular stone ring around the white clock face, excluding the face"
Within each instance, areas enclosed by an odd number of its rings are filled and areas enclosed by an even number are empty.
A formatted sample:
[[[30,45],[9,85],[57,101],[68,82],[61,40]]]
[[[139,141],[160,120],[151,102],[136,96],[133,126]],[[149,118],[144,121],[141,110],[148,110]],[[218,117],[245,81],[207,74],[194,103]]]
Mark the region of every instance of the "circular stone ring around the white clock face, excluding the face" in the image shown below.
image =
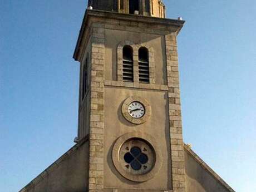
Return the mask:
[[[144,106],[145,114],[142,117],[134,118],[129,114],[128,108],[132,102],[139,102],[141,105]],[[127,121],[131,122],[132,124],[136,124],[136,125],[144,124],[151,116],[151,107],[149,105],[149,102],[147,102],[147,100],[142,97],[136,97],[136,96],[128,97],[122,104],[122,115],[125,117]]]

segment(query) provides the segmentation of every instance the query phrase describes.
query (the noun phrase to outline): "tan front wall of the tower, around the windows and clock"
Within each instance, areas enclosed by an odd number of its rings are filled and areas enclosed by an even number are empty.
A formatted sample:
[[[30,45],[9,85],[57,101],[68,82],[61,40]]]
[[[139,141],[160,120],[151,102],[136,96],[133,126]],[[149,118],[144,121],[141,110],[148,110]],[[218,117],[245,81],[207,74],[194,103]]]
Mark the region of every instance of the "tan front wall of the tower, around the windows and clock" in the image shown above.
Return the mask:
[[[131,19],[134,19],[131,21],[129,17],[126,18],[125,15],[120,14],[118,16],[122,18],[115,19],[113,13],[90,12],[95,13],[95,17],[88,18],[87,23],[87,29],[90,29],[88,33],[91,35],[91,51],[89,51],[91,52],[89,191],[101,192],[111,188],[123,190],[124,186],[126,189],[185,191],[176,49],[176,36],[182,24],[173,20],[163,22],[159,18],[151,20],[150,17],[139,16],[130,16]],[[100,14],[104,17],[100,18]],[[113,17],[107,18],[107,16]],[[139,83],[136,80],[133,83],[122,82],[121,78],[117,78],[119,77],[118,54],[120,52],[118,47],[127,42],[130,46],[135,47],[135,51],[140,46],[149,48],[152,77],[150,84]],[[85,57],[88,52],[84,47],[88,47],[88,44],[85,43],[81,46],[81,50],[84,51],[80,52],[82,54],[79,56],[80,58]],[[136,52],[134,60],[137,61]],[[131,88],[135,89],[131,91]],[[110,93],[109,90],[111,90]],[[107,95],[106,92],[108,92]],[[111,97],[111,94],[117,94],[115,95],[117,98],[115,99],[114,95]],[[161,149],[160,152],[164,159],[162,174],[157,174],[152,180],[145,183],[136,184],[118,174],[112,175],[115,173],[115,168],[112,166],[112,157],[109,155],[115,138],[129,132],[125,120],[121,121],[122,116],[119,109],[122,100],[132,95],[140,95],[149,100],[153,113],[149,122],[134,127],[130,131],[136,131],[141,127],[142,134],[145,132],[144,135],[148,134],[154,137],[158,141],[157,145]],[[120,99],[121,101],[119,101]],[[159,105],[154,101],[158,101]],[[110,109],[116,109],[116,111],[112,113]],[[156,122],[159,122],[159,125],[155,125]],[[157,129],[158,132],[156,132]],[[121,132],[121,130],[124,131]],[[112,138],[113,136],[115,138]],[[120,186],[120,184],[122,185]]]

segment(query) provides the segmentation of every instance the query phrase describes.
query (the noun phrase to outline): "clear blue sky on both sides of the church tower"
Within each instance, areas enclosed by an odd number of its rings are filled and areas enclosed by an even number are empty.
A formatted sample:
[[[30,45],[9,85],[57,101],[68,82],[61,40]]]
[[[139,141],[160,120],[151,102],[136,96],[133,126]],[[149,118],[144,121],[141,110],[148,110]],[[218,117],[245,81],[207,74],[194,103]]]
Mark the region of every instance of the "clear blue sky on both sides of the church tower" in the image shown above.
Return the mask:
[[[73,145],[85,0],[0,0],[0,192]],[[256,190],[256,1],[165,1],[179,35],[184,141],[236,191]]]

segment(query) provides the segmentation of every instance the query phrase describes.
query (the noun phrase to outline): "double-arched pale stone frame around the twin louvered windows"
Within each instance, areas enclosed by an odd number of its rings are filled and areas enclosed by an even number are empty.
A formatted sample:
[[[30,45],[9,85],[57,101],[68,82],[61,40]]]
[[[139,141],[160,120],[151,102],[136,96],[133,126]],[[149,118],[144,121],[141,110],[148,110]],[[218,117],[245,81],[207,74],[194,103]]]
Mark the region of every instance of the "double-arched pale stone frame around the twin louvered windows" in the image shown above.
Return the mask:
[[[134,52],[134,83],[140,83],[145,84],[142,82],[139,82],[139,49],[141,47],[147,48],[149,51],[149,84],[155,84],[155,52],[154,48],[148,45],[148,43],[140,43],[136,44],[132,41],[125,40],[119,43],[117,45],[117,81],[122,80],[122,61],[123,61],[123,53],[122,50],[124,46],[131,46],[133,52]]]

